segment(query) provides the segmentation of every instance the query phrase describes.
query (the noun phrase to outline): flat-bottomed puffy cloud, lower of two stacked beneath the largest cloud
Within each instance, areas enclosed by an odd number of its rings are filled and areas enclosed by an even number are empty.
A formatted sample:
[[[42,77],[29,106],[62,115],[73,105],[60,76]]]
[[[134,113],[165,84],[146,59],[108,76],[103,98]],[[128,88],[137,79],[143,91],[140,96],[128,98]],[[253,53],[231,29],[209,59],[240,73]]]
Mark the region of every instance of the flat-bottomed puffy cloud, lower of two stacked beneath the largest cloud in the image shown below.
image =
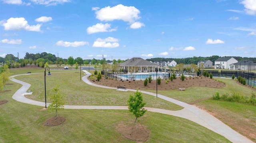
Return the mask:
[[[98,38],[94,41],[92,47],[116,48],[119,47],[118,41],[118,39],[113,37],[107,37],[106,39]]]

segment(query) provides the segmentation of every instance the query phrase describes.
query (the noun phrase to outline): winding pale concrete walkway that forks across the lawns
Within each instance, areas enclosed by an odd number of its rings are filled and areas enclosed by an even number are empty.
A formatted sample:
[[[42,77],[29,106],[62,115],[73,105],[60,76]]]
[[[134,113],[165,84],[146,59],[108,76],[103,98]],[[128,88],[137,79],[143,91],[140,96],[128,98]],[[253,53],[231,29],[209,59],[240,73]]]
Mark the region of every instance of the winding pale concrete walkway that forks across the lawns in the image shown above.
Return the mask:
[[[94,84],[90,82],[87,77],[90,75],[88,71],[83,71],[86,72],[87,75],[82,77],[82,80],[86,82],[87,84],[90,84],[92,86],[98,86],[101,88],[110,88],[110,89],[115,89],[113,87],[108,87],[108,86],[101,86],[98,84]],[[20,74],[22,75],[22,74]],[[18,76],[18,75],[15,75]],[[15,94],[12,96],[14,100],[17,100],[19,102],[27,103],[27,104],[32,104],[32,105],[37,105],[37,106],[45,106],[44,102],[38,102],[34,100],[30,100],[28,98],[24,97],[24,93],[29,89],[30,84],[26,82],[22,82],[20,80],[14,79],[15,76],[11,76],[11,80],[17,83],[22,84],[22,87],[15,92]],[[127,89],[128,91],[133,91],[135,92],[136,90],[133,89]],[[140,91],[145,94],[149,94],[152,96],[156,96],[155,93],[151,92],[146,92],[146,91]],[[167,114],[167,115],[172,115],[172,116],[177,116],[185,119],[189,119],[191,121],[194,121],[195,123],[198,123],[199,125],[202,125],[220,135],[223,135],[226,137],[228,140],[232,141],[233,143],[253,143],[251,140],[247,139],[243,135],[239,134],[238,132],[234,131],[228,125],[222,123],[220,120],[215,118],[214,116],[210,115],[209,113],[197,108],[196,106],[186,104],[184,102],[163,96],[158,94],[158,98],[162,98],[166,101],[172,102],[174,104],[177,104],[179,106],[184,107],[182,110],[178,111],[171,111],[171,110],[164,110],[164,109],[156,109],[156,108],[146,108],[150,112],[158,112],[162,114]],[[49,105],[49,103],[47,103]],[[110,109],[110,110],[128,110],[127,106],[73,106],[73,105],[65,105],[64,108],[66,109]]]

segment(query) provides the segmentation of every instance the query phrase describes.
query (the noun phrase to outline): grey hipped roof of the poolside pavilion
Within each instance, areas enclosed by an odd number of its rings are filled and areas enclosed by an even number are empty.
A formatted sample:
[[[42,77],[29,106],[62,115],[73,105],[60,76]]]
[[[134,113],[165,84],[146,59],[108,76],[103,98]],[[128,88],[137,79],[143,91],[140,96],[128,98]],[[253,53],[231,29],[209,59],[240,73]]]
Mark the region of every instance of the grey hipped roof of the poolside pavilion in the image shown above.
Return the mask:
[[[131,58],[128,61],[125,61],[124,63],[121,63],[120,66],[124,66],[124,67],[132,67],[132,66],[158,66],[155,63],[151,63],[149,61],[146,61],[142,58]]]

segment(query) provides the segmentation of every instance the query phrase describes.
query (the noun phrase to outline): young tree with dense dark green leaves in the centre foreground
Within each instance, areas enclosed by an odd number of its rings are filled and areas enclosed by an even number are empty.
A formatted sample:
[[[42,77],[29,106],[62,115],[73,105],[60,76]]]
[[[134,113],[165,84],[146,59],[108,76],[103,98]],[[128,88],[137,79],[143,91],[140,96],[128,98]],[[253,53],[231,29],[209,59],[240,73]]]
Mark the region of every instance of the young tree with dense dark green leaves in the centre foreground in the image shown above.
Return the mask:
[[[146,105],[146,102],[143,102],[142,92],[139,92],[138,90],[136,90],[136,92],[134,92],[134,95],[130,94],[130,97],[128,100],[128,109],[136,117],[135,119],[136,125],[137,125],[138,118],[143,116],[147,111],[144,108],[145,105]]]

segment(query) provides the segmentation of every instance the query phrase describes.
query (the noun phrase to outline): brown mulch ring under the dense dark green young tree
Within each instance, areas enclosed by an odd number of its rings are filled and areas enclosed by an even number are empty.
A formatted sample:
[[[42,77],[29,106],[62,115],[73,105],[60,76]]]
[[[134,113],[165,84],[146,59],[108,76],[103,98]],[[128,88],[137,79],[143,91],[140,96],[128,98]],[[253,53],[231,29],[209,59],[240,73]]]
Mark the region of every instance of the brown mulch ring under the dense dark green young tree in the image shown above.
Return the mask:
[[[146,126],[138,123],[137,128],[135,124],[132,123],[124,123],[120,122],[117,126],[116,129],[122,133],[122,135],[126,139],[130,139],[132,141],[147,141],[150,137],[150,130],[146,128]]]

